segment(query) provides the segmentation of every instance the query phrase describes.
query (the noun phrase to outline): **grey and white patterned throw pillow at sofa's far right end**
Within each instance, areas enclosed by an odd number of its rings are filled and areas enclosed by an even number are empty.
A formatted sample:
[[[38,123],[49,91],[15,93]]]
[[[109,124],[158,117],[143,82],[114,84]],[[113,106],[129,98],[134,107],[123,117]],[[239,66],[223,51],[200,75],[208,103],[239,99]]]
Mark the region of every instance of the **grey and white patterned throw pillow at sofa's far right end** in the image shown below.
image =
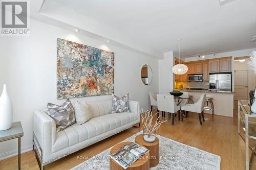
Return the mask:
[[[112,111],[111,113],[118,112],[130,112],[129,110],[129,93],[118,98],[118,96],[112,94]]]

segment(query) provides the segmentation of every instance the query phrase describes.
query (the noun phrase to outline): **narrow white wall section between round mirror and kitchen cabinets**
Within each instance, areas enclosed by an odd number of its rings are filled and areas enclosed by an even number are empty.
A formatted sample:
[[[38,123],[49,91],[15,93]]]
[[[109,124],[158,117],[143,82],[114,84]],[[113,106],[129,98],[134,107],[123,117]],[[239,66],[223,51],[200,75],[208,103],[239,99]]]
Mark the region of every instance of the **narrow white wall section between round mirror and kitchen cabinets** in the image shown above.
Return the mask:
[[[159,60],[159,90],[160,94],[169,94],[174,89],[173,52],[164,53],[164,59]]]

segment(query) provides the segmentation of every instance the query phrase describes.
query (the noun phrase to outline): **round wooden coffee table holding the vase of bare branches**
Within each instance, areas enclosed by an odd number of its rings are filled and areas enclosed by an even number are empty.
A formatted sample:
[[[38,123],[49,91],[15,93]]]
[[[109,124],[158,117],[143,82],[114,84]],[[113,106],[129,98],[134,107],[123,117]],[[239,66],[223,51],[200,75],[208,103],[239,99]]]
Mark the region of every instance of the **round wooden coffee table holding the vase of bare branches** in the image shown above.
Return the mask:
[[[156,140],[152,143],[146,142],[143,139],[143,135],[138,135],[135,138],[135,142],[142,144],[144,147],[146,147],[148,150],[150,150],[150,167],[155,167],[159,163],[159,139],[156,138]]]

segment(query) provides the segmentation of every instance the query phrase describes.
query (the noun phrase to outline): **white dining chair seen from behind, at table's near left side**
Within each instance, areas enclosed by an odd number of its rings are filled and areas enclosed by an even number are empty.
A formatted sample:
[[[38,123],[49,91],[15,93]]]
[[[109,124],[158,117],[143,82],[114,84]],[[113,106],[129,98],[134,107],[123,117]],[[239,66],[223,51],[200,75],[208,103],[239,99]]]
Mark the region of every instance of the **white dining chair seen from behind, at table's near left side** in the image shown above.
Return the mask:
[[[157,108],[159,111],[173,114],[172,125],[174,125],[175,114],[180,111],[180,107],[175,103],[174,96],[169,94],[157,94]]]

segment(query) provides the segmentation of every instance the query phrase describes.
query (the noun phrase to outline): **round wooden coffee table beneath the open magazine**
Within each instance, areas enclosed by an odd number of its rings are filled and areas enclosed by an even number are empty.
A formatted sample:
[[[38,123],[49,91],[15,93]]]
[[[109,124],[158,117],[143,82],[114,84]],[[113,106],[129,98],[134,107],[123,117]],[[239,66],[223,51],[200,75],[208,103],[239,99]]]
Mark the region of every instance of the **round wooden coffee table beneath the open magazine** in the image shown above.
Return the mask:
[[[131,142],[121,142],[116,144],[110,151],[110,155],[115,153],[119,148],[123,147],[125,144],[130,144]],[[110,169],[111,170],[121,170],[124,169],[120,166],[116,161],[110,158]],[[150,153],[146,153],[142,155],[140,159],[136,160],[131,166],[128,168],[129,170],[148,170],[150,169]]]

